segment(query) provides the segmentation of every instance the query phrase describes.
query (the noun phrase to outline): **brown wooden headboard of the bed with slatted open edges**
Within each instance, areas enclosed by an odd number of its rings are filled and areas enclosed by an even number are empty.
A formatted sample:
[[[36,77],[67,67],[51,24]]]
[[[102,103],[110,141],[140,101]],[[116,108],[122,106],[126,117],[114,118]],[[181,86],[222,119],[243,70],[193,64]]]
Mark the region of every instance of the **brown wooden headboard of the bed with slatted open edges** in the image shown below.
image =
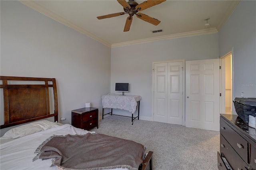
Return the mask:
[[[2,128],[20,125],[48,117],[58,121],[58,97],[55,78],[0,76],[4,101]],[[50,113],[50,95],[54,104]],[[52,103],[51,102],[51,103]]]

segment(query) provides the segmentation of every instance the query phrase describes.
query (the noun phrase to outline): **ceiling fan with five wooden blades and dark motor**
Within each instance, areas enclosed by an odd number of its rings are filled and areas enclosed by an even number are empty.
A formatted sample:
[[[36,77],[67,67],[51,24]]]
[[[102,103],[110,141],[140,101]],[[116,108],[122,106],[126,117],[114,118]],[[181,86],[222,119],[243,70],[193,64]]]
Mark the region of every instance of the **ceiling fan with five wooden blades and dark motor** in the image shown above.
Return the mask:
[[[142,2],[141,4],[138,4],[134,0],[129,0],[128,2],[126,2],[126,0],[117,0],[117,1],[124,7],[124,12],[118,12],[118,13],[114,13],[114,14],[98,16],[97,18],[99,20],[101,20],[101,19],[105,19],[105,18],[111,18],[111,17],[115,17],[115,16],[129,14],[129,16],[126,19],[125,26],[124,26],[124,32],[127,32],[130,30],[130,26],[132,24],[132,16],[134,16],[134,14],[138,18],[157,26],[160,23],[159,20],[152,18],[150,16],[147,16],[146,14],[137,13],[137,12],[145,10],[145,9],[155,6],[157,4],[160,4],[166,0],[146,0],[146,1]]]

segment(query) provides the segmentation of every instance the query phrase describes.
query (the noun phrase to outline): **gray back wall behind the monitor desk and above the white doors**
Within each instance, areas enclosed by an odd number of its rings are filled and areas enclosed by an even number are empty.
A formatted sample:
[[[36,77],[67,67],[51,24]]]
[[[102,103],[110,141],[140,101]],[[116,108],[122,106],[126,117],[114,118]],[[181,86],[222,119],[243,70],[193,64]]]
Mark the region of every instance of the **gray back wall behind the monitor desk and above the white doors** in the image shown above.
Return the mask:
[[[162,40],[111,49],[111,93],[115,83],[130,83],[127,95],[140,95],[140,119],[152,120],[152,63],[218,58],[218,33]],[[122,110],[115,113],[129,115]]]

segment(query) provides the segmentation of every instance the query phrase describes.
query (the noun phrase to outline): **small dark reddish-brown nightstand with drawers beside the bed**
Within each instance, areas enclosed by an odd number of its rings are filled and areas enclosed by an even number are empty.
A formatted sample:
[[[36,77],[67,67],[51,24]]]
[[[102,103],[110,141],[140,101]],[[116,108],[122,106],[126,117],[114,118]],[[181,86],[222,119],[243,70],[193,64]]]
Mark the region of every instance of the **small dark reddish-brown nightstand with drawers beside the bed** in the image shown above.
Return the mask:
[[[91,128],[98,128],[98,108],[85,107],[71,111],[72,126],[90,130]]]

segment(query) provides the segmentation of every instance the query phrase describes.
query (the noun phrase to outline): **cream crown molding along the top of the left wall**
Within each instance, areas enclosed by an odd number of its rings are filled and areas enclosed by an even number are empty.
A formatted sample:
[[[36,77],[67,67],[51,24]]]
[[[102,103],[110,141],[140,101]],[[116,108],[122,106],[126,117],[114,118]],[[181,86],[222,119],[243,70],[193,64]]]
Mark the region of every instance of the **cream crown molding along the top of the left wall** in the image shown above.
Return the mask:
[[[68,27],[70,27],[70,28],[72,28],[72,29],[74,29],[74,30],[76,30],[76,31],[78,31],[78,32],[80,32],[80,33],[82,33],[82,34],[84,34],[84,35],[86,35],[86,36],[104,44],[104,45],[106,45],[106,46],[108,46],[108,47],[111,47],[111,43],[106,42],[105,40],[99,38],[98,36],[95,36],[94,34],[88,32],[87,30],[77,26],[76,24],[73,24],[72,22],[69,22],[68,20],[66,20],[62,16],[60,16],[60,15],[52,12],[51,10],[48,10],[48,9],[44,8],[43,6],[39,5],[34,0],[18,0],[18,1],[21,2],[22,4],[28,6],[28,7],[36,10],[36,11],[44,14],[44,15],[52,18],[53,20],[56,20],[56,21],[60,22],[61,24],[64,24],[64,25],[66,25],[66,26],[68,26]]]

